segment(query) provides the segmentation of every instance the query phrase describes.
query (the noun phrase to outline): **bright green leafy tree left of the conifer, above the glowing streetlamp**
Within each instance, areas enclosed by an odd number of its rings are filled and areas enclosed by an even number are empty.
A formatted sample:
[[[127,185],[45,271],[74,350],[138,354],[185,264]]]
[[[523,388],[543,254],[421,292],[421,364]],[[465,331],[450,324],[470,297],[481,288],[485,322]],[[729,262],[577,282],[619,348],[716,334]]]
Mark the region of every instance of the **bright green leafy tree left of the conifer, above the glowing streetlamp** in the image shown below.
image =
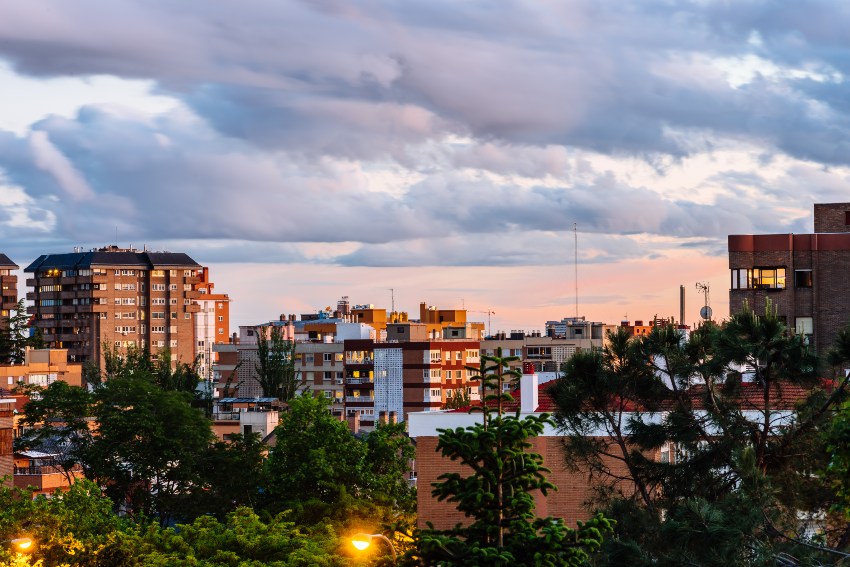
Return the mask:
[[[413,447],[402,425],[379,425],[363,437],[328,411],[324,398],[290,400],[266,462],[263,506],[291,509],[299,524],[325,519],[374,530],[412,524],[416,494],[407,482]],[[364,526],[368,526],[364,527]]]

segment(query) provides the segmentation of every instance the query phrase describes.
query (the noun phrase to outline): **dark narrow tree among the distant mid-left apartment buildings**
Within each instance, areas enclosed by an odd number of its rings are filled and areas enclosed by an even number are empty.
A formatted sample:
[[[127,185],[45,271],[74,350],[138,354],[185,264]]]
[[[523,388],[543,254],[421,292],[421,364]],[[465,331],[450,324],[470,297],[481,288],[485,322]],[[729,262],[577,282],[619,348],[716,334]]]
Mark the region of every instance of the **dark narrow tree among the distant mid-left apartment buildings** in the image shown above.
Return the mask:
[[[267,398],[287,402],[295,397],[302,382],[295,369],[295,342],[283,338],[280,327],[257,327],[257,382]]]

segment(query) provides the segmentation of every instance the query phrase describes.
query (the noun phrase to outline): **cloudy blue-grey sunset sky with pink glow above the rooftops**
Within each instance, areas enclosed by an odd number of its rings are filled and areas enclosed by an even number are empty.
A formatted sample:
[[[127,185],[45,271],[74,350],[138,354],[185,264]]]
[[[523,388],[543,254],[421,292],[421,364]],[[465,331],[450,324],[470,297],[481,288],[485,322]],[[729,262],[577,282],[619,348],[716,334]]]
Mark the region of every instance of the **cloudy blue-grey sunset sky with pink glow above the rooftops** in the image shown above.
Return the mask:
[[[847,29],[810,0],[0,2],[0,251],[186,252],[234,325],[343,295],[678,318],[680,285],[693,323],[698,282],[722,318],[727,235],[850,201]]]

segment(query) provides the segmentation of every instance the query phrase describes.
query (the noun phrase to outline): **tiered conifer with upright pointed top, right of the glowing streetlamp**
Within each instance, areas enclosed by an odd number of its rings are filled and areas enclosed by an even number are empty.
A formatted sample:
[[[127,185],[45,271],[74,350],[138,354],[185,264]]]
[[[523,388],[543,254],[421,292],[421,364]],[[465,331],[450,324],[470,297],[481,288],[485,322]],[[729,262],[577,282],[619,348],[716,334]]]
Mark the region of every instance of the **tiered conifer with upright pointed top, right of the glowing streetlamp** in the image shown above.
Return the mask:
[[[563,520],[535,516],[532,492],[545,495],[556,488],[546,478],[543,457],[529,451],[529,439],[542,433],[550,418],[503,415],[503,404],[512,401],[503,384],[518,374],[507,370],[511,360],[501,352],[482,357],[480,424],[439,430],[437,450],[470,474],[441,475],[432,494],[456,503],[471,522],[419,532],[419,553],[428,565],[583,565],[612,528],[602,515],[579,523],[577,530]]]

